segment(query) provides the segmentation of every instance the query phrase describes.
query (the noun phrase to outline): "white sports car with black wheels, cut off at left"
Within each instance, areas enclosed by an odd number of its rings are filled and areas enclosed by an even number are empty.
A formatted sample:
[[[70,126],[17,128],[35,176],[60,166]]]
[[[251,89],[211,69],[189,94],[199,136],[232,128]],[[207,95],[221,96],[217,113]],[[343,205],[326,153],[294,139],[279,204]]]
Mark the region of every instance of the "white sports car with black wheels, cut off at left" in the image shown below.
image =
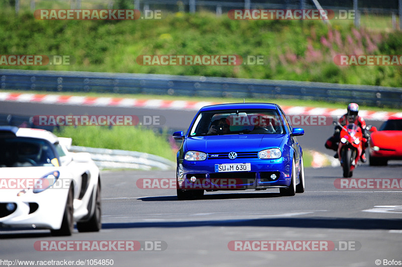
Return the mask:
[[[99,169],[71,139],[42,129],[0,126],[0,228],[99,231]]]

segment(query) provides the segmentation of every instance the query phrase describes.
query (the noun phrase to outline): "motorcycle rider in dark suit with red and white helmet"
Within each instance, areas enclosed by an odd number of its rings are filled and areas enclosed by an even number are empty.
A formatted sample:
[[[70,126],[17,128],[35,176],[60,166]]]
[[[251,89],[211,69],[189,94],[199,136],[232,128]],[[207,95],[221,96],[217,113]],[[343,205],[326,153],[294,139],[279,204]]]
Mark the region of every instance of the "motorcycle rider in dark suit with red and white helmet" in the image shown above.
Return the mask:
[[[338,122],[342,125],[345,126],[350,123],[354,123],[357,126],[361,128],[361,132],[363,135],[363,138],[369,139],[370,136],[368,135],[368,132],[366,132],[366,122],[364,119],[358,115],[359,113],[359,105],[356,103],[350,103],[348,105],[348,112],[344,114],[342,117],[338,119]],[[341,141],[341,130],[342,127],[339,125],[335,126],[335,131],[332,137],[330,137],[327,142],[325,143],[325,147],[327,149],[332,149],[334,151],[338,150],[338,145],[339,142]],[[360,156],[360,161],[365,163],[367,161],[366,159],[366,148],[368,147],[368,142],[362,141],[362,153]],[[338,158],[338,153],[335,154],[334,158]]]

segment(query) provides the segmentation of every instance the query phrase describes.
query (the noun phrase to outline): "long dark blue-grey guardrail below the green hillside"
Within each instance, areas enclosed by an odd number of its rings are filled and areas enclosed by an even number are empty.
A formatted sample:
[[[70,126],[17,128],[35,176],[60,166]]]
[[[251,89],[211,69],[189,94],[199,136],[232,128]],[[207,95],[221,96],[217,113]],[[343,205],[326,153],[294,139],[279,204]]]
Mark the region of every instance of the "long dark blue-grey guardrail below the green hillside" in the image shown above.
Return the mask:
[[[0,70],[1,89],[52,92],[289,98],[402,107],[402,88],[162,74]]]

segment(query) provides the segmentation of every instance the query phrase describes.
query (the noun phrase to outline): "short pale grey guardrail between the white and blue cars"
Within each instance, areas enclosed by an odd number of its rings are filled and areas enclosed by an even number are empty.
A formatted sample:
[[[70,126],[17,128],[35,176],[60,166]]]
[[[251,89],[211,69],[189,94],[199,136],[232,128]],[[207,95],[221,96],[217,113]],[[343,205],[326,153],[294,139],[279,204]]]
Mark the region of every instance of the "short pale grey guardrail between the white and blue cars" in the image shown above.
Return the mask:
[[[91,155],[91,159],[99,168],[107,169],[140,169],[150,170],[156,168],[159,170],[173,169],[176,164],[165,158],[125,150],[97,149],[71,146],[71,152],[87,152]]]

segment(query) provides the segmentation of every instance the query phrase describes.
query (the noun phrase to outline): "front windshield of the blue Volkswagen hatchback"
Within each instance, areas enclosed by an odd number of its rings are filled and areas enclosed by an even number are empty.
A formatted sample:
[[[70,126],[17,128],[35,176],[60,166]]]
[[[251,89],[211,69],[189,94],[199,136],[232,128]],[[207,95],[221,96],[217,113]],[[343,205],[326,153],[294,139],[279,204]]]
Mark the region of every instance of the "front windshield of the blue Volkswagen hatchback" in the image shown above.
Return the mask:
[[[230,109],[200,112],[190,136],[285,133],[276,109]]]

